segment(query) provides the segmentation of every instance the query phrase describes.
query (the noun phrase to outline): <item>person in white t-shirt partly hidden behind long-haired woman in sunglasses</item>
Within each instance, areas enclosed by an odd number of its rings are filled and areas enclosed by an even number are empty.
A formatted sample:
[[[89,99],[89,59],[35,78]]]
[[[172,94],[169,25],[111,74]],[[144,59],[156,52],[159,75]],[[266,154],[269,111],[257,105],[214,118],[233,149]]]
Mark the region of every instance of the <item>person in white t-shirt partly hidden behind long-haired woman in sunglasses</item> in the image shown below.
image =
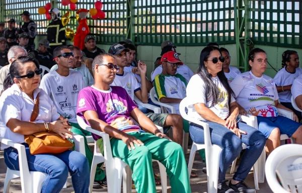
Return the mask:
[[[226,79],[228,79],[229,84],[235,79],[235,77],[241,74],[240,70],[234,66],[230,66],[231,56],[228,50],[225,48],[219,48],[222,57],[224,58],[224,62],[222,63],[222,69]]]

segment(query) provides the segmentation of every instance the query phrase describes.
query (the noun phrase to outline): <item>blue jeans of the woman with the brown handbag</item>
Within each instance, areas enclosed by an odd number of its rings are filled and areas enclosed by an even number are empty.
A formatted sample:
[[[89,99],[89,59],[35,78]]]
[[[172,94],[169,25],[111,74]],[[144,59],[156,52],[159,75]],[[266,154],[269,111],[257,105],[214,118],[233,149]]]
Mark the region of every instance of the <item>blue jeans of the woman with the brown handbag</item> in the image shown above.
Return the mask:
[[[58,154],[36,154],[32,155],[28,144],[25,151],[30,171],[41,171],[47,173],[42,185],[42,193],[60,192],[66,179],[68,171],[71,175],[72,185],[75,193],[88,193],[90,171],[86,157],[77,151],[65,151]],[[5,163],[10,169],[19,170],[19,155],[13,147],[4,150]]]

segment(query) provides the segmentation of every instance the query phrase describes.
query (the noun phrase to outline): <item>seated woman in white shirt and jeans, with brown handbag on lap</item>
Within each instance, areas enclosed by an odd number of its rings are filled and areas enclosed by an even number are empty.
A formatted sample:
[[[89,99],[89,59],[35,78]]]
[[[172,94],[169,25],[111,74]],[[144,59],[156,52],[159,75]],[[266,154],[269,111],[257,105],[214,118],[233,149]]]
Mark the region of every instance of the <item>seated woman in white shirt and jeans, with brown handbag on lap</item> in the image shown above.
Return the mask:
[[[74,191],[88,193],[89,165],[82,153],[67,150],[57,154],[32,155],[24,141],[24,135],[45,131],[57,133],[63,138],[72,137],[67,120],[60,117],[49,96],[38,88],[41,73],[39,63],[29,57],[18,58],[11,65],[10,74],[4,81],[4,92],[0,96],[1,136],[25,146],[30,171],[47,174],[41,187],[42,193],[59,192],[68,177],[68,171]],[[37,105],[38,115],[32,118],[31,114]],[[19,170],[17,149],[9,146],[4,148],[6,165]]]

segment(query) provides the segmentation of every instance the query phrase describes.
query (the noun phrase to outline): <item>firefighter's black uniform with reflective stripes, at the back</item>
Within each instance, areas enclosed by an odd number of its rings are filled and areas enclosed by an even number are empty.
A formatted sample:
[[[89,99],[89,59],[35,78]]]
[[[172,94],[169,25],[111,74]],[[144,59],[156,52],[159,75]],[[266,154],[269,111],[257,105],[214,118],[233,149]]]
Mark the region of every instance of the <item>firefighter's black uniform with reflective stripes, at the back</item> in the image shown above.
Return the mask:
[[[57,46],[65,45],[65,27],[62,25],[60,19],[49,23],[46,34],[49,46],[52,50]]]

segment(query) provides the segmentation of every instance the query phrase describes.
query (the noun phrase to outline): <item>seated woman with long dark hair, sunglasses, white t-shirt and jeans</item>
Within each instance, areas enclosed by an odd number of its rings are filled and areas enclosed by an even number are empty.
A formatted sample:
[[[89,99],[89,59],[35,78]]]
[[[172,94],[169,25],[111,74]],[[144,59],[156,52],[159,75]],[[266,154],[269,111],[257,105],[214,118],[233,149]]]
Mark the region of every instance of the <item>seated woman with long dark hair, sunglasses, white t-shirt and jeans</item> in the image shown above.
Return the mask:
[[[216,47],[206,47],[201,51],[198,73],[187,85],[187,97],[192,105],[188,114],[209,124],[211,141],[222,148],[218,192],[255,192],[243,181],[260,156],[265,145],[265,136],[257,129],[240,122],[238,104],[234,93],[222,71],[224,58]],[[203,128],[192,124],[190,135],[194,142],[204,143]],[[242,143],[249,146],[241,163],[230,181],[225,182],[225,173],[233,160],[240,154]]]

